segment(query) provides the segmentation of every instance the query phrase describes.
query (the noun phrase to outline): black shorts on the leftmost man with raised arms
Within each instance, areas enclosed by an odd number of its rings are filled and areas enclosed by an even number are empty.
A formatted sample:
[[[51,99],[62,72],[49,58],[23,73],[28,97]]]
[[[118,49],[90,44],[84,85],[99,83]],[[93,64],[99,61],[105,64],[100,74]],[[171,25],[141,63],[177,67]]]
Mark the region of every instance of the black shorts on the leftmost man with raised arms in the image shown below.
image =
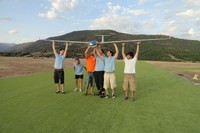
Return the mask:
[[[64,84],[64,70],[54,70],[54,82],[55,84]]]

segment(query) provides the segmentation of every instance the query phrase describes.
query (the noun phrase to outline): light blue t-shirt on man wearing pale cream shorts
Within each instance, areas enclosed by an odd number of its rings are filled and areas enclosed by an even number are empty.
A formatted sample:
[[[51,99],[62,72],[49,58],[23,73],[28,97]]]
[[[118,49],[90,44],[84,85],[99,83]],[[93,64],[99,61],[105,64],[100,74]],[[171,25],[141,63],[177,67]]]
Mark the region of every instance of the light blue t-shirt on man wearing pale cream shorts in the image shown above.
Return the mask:
[[[104,59],[105,59],[104,71],[105,72],[114,72],[116,58],[114,56],[112,56],[112,57],[105,57]]]

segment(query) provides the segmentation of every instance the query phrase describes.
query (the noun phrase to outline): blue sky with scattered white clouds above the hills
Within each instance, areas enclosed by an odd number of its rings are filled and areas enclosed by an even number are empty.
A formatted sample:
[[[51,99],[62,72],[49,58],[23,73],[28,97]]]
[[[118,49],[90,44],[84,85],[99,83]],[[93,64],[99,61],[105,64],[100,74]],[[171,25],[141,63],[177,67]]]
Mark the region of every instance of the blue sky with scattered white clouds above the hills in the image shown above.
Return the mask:
[[[0,0],[0,42],[95,29],[200,40],[200,0]]]

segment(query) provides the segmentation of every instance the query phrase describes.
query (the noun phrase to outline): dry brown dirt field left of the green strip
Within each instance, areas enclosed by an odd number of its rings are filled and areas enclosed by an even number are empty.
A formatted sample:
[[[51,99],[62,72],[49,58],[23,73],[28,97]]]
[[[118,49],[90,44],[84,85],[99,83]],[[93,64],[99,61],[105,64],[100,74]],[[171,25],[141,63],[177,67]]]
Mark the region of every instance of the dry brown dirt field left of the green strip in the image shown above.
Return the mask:
[[[0,78],[52,71],[55,58],[0,57]],[[65,68],[73,67],[74,59],[65,60]]]

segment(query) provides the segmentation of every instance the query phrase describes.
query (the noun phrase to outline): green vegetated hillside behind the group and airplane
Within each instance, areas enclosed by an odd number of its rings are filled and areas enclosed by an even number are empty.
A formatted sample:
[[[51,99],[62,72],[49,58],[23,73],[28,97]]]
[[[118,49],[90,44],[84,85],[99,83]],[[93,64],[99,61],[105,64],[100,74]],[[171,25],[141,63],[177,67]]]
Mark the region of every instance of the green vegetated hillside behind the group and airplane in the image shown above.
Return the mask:
[[[85,30],[74,31],[62,36],[50,37],[48,39],[55,40],[73,40],[73,41],[101,41],[101,37],[96,35],[110,35],[105,37],[105,41],[114,40],[132,40],[132,39],[153,39],[168,37],[165,35],[131,35],[116,32],[113,30]],[[126,52],[135,51],[134,43],[126,45]],[[56,43],[57,49],[63,47],[63,43]],[[68,57],[84,57],[86,44],[73,44],[69,47]],[[105,44],[102,46],[104,50],[113,50],[112,44]],[[121,51],[121,44],[118,45]],[[142,42],[140,49],[141,60],[161,60],[161,61],[200,61],[200,41],[185,40],[178,38],[171,38],[170,40],[148,41]],[[9,55],[26,55],[26,56],[53,56],[51,42],[38,40],[36,42],[24,43],[10,48],[7,52]],[[14,54],[13,54],[14,53]],[[120,56],[121,58],[121,52]]]

